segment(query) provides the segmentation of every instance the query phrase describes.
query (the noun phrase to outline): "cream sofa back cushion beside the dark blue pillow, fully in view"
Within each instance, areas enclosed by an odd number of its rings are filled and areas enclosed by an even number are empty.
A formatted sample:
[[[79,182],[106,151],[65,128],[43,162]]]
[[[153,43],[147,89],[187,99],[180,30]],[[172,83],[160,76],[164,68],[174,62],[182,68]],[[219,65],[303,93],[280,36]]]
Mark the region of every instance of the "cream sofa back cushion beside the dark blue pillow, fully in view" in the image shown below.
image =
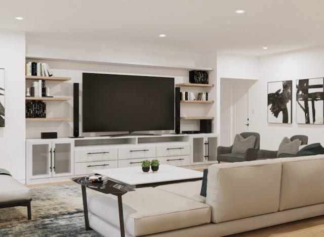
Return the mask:
[[[214,223],[276,212],[281,162],[259,160],[208,167],[206,204]]]

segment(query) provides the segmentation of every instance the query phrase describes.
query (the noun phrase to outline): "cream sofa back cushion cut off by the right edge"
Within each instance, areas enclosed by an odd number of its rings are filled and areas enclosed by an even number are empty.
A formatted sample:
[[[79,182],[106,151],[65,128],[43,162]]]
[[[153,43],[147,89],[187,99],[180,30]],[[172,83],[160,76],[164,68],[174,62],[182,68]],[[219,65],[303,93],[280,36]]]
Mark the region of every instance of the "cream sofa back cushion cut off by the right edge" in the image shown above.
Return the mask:
[[[324,155],[282,158],[279,210],[324,203]]]

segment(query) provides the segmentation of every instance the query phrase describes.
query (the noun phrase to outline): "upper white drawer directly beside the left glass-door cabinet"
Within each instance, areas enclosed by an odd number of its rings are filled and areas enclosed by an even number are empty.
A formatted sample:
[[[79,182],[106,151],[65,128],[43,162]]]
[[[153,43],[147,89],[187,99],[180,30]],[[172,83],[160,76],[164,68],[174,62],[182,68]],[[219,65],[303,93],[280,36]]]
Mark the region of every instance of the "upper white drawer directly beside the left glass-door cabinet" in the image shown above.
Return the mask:
[[[78,162],[117,160],[117,148],[75,149],[74,160]]]

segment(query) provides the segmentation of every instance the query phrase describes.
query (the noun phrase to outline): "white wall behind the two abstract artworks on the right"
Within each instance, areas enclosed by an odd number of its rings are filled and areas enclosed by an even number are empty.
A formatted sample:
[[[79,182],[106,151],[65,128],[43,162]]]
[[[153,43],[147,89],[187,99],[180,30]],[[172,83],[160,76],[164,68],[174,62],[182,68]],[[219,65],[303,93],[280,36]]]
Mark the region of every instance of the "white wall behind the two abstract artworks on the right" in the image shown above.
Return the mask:
[[[308,144],[324,145],[324,125],[296,124],[296,80],[324,77],[324,47],[276,54],[260,58],[260,80],[250,89],[250,130],[259,131],[261,148],[276,150],[284,136],[308,135]],[[267,82],[293,80],[293,123],[267,123]]]

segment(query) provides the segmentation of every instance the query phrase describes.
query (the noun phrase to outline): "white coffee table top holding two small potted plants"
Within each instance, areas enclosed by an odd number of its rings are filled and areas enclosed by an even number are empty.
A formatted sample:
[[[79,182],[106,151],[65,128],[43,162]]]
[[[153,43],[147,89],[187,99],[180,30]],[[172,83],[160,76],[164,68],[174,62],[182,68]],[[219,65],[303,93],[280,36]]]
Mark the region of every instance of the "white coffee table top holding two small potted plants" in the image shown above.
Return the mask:
[[[159,165],[156,172],[151,170],[143,172],[141,166],[98,169],[93,170],[93,172],[130,185],[203,178],[203,172],[172,165]]]

